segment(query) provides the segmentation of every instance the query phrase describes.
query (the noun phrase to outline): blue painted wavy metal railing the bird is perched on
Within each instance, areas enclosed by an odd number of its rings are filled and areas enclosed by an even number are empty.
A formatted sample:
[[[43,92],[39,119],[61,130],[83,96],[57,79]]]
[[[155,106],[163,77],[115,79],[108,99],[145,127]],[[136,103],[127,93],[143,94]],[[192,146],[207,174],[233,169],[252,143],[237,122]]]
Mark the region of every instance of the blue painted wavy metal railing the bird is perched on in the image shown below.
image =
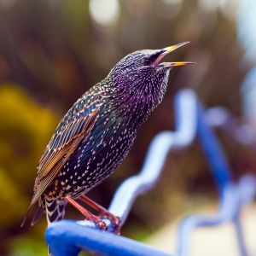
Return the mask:
[[[245,203],[253,200],[256,191],[255,178],[245,176],[237,184],[232,181],[229,163],[224,157],[218,138],[209,125],[209,113],[197,102],[192,90],[179,92],[174,103],[177,119],[176,131],[164,131],[154,137],[141,172],[129,177],[119,186],[108,210],[119,216],[121,225],[124,224],[137,196],[154,187],[160,177],[167,154],[173,149],[188,147],[197,133],[211,166],[213,177],[218,184],[220,204],[215,214],[195,215],[183,220],[178,230],[177,255],[189,255],[189,240],[196,227],[230,221],[235,227],[241,255],[246,256],[247,250],[241,231],[239,212]],[[218,109],[217,113],[221,114],[221,109]],[[218,125],[221,124],[218,123]],[[74,256],[80,250],[89,250],[104,255],[170,255],[148,247],[142,242],[111,234],[113,227],[108,219],[104,220],[108,223],[109,232],[96,230],[95,224],[89,221],[63,220],[49,225],[46,241],[50,251],[55,256]]]

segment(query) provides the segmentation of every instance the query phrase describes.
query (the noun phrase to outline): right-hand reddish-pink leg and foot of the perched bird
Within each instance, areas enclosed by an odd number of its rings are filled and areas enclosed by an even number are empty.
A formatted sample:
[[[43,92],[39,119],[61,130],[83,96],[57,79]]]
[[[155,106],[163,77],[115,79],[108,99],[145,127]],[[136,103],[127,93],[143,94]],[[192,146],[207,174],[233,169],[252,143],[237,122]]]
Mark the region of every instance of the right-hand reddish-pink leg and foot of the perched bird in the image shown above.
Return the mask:
[[[114,233],[120,234],[119,224],[120,224],[121,219],[118,216],[115,216],[111,212],[108,212],[108,210],[106,208],[100,206],[95,201],[90,200],[90,198],[88,198],[87,196],[80,195],[79,199],[81,201],[84,201],[84,203],[87,204],[88,206],[94,208],[97,212],[99,212],[98,216],[100,218],[102,218],[102,217],[109,218],[111,223],[115,226]]]

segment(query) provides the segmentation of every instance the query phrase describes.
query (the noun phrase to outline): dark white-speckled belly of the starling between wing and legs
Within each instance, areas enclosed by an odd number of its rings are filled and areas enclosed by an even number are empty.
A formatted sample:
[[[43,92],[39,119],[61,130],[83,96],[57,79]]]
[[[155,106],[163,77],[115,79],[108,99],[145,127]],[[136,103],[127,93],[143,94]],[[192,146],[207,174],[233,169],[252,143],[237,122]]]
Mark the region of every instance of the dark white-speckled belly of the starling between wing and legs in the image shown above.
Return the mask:
[[[99,119],[60,173],[67,192],[79,195],[101,183],[125,159],[136,135],[137,130],[125,122]]]

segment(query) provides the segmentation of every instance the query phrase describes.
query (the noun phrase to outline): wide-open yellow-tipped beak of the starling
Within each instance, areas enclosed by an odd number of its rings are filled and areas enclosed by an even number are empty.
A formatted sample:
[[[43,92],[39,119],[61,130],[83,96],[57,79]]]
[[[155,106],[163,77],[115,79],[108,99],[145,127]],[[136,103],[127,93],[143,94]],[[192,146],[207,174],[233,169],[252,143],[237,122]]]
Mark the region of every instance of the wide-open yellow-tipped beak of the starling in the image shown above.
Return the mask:
[[[178,62],[162,62],[160,63],[160,60],[167,54],[169,54],[170,52],[172,52],[173,50],[182,47],[185,44],[189,44],[190,42],[183,42],[183,43],[179,43],[179,44],[175,44],[169,47],[166,47],[164,49],[162,49],[162,52],[160,53],[160,55],[156,58],[156,60],[153,63],[153,66],[160,66],[160,67],[177,67],[177,66],[184,66],[184,65],[189,65],[189,64],[195,64],[195,62],[190,62],[190,61],[178,61]]]

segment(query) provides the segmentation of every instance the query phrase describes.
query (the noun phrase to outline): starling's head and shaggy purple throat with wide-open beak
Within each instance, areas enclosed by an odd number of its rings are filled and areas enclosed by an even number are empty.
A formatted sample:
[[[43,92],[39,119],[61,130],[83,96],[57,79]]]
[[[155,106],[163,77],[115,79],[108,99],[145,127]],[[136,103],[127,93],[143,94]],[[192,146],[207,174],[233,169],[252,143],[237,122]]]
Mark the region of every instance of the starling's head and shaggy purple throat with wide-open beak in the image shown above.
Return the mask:
[[[150,113],[165,95],[172,67],[194,63],[162,62],[162,58],[188,43],[175,44],[164,49],[137,50],[119,61],[108,75],[115,91],[113,95],[118,96],[119,104],[125,104],[142,115],[145,112]]]

